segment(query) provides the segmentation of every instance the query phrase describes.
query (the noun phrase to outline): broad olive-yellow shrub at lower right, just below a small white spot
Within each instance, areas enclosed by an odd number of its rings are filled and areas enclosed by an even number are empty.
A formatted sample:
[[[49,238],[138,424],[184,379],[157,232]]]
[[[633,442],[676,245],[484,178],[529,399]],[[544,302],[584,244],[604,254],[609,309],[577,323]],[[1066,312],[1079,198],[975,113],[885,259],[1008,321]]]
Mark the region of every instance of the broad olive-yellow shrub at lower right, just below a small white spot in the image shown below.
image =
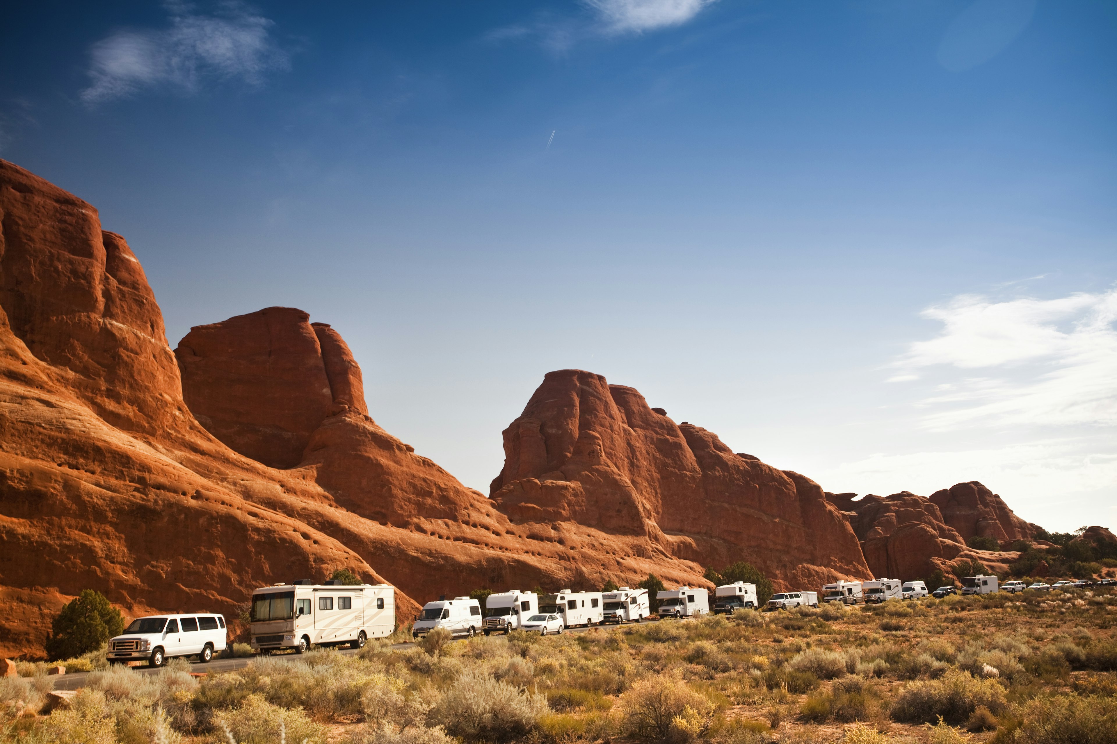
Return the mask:
[[[949,669],[938,679],[911,682],[892,704],[892,717],[906,723],[932,723],[938,717],[961,724],[978,705],[993,713],[1005,708],[1004,688],[962,669]]]

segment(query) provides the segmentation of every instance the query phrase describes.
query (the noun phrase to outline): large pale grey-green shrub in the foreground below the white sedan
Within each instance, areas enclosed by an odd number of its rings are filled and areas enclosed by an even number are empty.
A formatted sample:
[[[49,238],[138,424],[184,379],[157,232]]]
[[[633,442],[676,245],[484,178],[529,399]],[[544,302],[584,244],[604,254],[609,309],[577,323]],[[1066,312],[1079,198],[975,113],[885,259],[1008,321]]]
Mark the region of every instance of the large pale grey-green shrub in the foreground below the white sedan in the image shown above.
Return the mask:
[[[431,709],[436,723],[467,741],[507,741],[526,734],[546,697],[474,671],[462,673]]]

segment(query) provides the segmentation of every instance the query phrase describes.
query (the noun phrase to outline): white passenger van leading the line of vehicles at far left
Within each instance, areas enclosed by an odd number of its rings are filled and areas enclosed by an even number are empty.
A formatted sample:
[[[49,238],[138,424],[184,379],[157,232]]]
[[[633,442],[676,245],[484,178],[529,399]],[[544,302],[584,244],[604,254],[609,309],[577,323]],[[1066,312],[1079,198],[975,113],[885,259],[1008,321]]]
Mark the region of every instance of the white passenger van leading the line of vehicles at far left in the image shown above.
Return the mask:
[[[147,661],[161,667],[174,656],[198,656],[207,663],[225,650],[228,629],[221,615],[153,615],[136,618],[120,636],[111,638],[109,664]]]

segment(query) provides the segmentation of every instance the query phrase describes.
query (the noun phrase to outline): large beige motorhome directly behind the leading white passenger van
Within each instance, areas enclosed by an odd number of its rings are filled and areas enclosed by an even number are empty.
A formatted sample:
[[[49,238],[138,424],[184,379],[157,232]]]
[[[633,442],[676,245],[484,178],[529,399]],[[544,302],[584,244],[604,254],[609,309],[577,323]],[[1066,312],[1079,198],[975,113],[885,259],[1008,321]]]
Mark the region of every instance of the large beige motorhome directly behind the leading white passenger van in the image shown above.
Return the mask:
[[[299,579],[252,592],[249,610],[251,647],[264,654],[311,645],[349,644],[361,648],[369,638],[395,629],[395,589],[386,583],[345,586]]]

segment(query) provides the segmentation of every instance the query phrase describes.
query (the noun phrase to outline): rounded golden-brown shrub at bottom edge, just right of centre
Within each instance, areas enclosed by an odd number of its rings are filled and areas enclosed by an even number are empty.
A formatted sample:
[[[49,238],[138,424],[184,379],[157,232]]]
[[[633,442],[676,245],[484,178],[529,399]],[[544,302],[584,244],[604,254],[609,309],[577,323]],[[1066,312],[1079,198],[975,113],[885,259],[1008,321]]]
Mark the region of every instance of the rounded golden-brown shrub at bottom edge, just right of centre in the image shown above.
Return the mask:
[[[621,696],[621,713],[624,729],[638,738],[666,738],[672,726],[686,738],[709,728],[714,706],[678,674],[665,674],[633,684]]]

